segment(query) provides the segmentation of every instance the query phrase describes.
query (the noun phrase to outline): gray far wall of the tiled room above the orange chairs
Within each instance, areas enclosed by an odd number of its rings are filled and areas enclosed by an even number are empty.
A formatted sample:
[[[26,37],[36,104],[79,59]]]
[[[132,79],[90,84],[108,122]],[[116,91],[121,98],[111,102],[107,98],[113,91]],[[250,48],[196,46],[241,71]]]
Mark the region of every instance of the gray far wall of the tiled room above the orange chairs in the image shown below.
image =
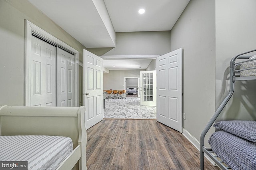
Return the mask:
[[[104,90],[124,90],[124,77],[140,77],[140,71],[145,70],[110,70],[103,74]]]

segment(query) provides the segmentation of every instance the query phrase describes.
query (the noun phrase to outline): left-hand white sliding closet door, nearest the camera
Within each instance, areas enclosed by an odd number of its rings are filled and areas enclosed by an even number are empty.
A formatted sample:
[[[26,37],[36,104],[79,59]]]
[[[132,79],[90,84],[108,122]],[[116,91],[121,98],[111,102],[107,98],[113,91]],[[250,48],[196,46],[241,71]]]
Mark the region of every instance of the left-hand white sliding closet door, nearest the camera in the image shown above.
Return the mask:
[[[31,106],[56,106],[56,47],[32,36]]]

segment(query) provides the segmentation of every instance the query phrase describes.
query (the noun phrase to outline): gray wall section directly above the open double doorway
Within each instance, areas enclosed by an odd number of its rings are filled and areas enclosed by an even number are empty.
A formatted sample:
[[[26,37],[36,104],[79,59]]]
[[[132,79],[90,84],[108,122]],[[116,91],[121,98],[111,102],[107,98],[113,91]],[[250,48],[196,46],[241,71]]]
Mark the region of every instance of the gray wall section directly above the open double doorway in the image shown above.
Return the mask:
[[[122,32],[116,33],[116,47],[104,55],[162,55],[168,52],[170,52],[169,31]]]

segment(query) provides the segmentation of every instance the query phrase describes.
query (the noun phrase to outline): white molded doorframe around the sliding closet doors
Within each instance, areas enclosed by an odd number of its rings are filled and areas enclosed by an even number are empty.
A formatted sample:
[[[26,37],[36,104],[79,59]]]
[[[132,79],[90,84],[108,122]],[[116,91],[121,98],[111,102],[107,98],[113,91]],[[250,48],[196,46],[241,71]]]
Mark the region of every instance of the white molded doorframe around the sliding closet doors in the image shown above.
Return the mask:
[[[53,42],[60,47],[68,49],[74,53],[74,106],[79,106],[79,52],[67,45],[66,43],[60,41],[58,38],[55,38],[48,32],[42,30],[32,22],[25,20],[25,106],[30,106],[30,85],[31,85],[31,37],[32,33],[45,38],[49,42]]]

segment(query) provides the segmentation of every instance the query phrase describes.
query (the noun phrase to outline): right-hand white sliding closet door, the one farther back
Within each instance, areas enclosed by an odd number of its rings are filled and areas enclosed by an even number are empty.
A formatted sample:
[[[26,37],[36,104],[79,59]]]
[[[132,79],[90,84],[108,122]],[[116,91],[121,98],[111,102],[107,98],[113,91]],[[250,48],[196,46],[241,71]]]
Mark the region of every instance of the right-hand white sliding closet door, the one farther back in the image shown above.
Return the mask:
[[[74,106],[74,55],[58,47],[57,106]]]

